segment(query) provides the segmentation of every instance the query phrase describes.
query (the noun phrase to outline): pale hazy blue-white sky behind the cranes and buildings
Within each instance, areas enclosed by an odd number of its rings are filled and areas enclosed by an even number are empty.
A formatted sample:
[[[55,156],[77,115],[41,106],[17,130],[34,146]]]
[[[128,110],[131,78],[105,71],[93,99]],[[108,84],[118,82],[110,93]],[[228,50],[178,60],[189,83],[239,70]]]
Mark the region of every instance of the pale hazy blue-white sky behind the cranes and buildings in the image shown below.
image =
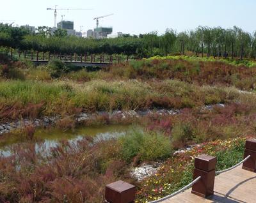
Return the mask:
[[[54,11],[46,8],[93,8],[81,11],[57,11],[65,20],[74,20],[75,28],[83,31],[95,27],[94,17],[115,13],[100,19],[100,26],[113,26],[113,33],[139,34],[166,28],[177,31],[197,26],[239,26],[245,31],[256,30],[255,0],[1,0],[0,22],[13,20],[19,26],[54,26]],[[13,21],[6,21],[11,23]]]

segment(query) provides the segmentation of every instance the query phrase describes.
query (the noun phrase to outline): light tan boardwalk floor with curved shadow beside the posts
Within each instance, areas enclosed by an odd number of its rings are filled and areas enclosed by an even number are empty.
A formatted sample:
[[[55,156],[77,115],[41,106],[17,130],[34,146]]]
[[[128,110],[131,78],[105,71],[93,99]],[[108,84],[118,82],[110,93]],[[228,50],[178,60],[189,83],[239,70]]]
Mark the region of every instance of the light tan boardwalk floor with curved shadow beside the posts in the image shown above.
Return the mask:
[[[214,195],[209,199],[198,197],[191,189],[175,197],[164,200],[163,203],[236,203],[256,202],[256,173],[243,170],[242,166],[215,177]]]

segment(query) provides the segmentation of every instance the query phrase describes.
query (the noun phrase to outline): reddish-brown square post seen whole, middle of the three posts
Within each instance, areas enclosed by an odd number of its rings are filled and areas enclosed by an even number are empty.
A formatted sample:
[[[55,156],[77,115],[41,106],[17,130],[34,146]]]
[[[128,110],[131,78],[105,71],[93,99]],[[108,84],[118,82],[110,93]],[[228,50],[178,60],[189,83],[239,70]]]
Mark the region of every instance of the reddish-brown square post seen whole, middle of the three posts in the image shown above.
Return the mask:
[[[193,179],[201,176],[201,179],[192,187],[192,193],[200,197],[213,195],[215,168],[217,159],[205,154],[195,158],[195,169]]]

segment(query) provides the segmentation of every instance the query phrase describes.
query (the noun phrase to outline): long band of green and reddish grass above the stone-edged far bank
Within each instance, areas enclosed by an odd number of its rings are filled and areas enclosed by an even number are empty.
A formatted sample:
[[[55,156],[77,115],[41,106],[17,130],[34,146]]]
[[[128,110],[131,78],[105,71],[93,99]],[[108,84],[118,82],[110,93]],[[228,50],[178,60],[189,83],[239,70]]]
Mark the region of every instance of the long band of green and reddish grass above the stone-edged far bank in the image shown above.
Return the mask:
[[[253,97],[253,96],[252,96]],[[196,86],[179,80],[0,82],[0,118],[73,115],[79,111],[180,109],[239,99],[236,89]]]

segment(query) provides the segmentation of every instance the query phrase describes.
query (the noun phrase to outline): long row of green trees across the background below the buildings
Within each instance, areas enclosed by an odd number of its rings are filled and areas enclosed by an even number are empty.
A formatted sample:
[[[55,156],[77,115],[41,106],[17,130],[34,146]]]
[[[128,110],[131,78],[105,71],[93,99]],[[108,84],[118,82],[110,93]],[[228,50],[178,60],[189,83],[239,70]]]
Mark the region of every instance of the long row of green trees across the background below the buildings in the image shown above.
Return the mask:
[[[178,33],[166,29],[157,32],[109,39],[77,38],[67,36],[58,29],[51,34],[49,27],[38,27],[30,33],[24,27],[0,24],[0,46],[19,50],[34,50],[59,54],[125,54],[136,57],[193,55],[213,57],[256,57],[256,33],[248,33],[234,26],[199,26],[191,31]]]

